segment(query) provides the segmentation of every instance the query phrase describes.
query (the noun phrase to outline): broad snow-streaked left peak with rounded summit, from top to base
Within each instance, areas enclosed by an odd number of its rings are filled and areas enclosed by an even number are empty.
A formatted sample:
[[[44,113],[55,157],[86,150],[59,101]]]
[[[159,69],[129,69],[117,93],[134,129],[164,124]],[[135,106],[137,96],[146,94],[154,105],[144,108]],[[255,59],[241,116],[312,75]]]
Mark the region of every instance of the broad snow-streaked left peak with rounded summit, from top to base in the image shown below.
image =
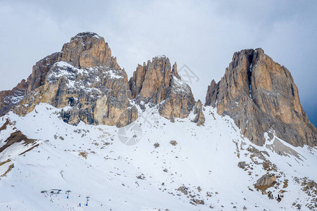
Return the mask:
[[[77,34],[60,53],[40,60],[27,79],[28,89],[14,112],[25,115],[39,103],[64,108],[64,122],[123,127],[137,119],[130,104],[128,76],[111,56],[104,38]]]

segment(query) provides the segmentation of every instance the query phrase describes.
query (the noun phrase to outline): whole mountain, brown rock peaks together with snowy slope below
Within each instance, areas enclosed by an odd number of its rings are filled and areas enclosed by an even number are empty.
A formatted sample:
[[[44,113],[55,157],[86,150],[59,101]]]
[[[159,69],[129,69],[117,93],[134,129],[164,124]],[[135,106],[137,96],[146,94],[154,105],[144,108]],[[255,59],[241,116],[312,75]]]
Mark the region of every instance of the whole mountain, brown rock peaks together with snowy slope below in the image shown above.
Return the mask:
[[[262,49],[203,103],[167,56],[128,79],[82,32],[0,103],[0,210],[316,210],[316,127]]]

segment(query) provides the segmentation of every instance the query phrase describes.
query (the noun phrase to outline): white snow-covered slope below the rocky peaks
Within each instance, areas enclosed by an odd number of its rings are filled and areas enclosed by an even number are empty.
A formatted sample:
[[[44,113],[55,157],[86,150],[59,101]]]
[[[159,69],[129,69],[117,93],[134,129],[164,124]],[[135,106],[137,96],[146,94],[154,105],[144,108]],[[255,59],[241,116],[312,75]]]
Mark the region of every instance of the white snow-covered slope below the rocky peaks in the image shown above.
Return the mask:
[[[317,181],[316,148],[295,148],[276,137],[255,146],[230,117],[204,109],[201,127],[191,122],[192,113],[170,122],[147,108],[120,129],[67,124],[48,104],[25,117],[9,113],[1,125],[9,118],[40,144],[23,155],[18,145],[1,154],[0,163],[11,159],[14,167],[0,177],[0,210],[316,209],[316,189],[306,188]],[[0,132],[0,146],[9,130]],[[254,188],[267,172],[277,180],[266,190],[271,199]]]

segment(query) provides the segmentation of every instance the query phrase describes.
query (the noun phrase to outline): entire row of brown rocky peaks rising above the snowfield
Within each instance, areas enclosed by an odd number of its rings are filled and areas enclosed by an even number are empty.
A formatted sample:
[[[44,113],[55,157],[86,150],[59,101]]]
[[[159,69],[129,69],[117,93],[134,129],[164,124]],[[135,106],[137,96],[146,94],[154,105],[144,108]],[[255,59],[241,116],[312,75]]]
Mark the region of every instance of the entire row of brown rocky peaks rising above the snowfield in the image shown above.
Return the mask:
[[[157,56],[138,65],[128,82],[111,49],[96,33],[84,32],[63,45],[61,52],[39,60],[32,74],[11,91],[0,92],[0,116],[14,110],[25,115],[39,103],[63,108],[65,122],[118,127],[137,119],[142,109],[156,106],[174,121],[194,110],[197,125],[205,118],[201,101],[178,75],[176,63]],[[309,122],[290,72],[262,49],[237,52],[225,75],[208,87],[205,106],[229,115],[253,143],[263,145],[265,132],[294,146],[316,146],[316,127]]]

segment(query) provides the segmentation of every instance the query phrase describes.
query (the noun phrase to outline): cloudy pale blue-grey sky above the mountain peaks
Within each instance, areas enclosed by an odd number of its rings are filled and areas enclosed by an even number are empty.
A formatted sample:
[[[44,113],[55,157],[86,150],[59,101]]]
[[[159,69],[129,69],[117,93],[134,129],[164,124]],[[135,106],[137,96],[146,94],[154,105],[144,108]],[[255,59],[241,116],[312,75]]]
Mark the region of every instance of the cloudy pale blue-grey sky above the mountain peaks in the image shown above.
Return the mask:
[[[235,51],[261,47],[290,70],[317,124],[317,1],[0,0],[0,90],[15,87],[38,60],[87,31],[104,37],[129,77],[137,63],[157,55],[179,69],[187,65],[195,99],[203,102]]]

